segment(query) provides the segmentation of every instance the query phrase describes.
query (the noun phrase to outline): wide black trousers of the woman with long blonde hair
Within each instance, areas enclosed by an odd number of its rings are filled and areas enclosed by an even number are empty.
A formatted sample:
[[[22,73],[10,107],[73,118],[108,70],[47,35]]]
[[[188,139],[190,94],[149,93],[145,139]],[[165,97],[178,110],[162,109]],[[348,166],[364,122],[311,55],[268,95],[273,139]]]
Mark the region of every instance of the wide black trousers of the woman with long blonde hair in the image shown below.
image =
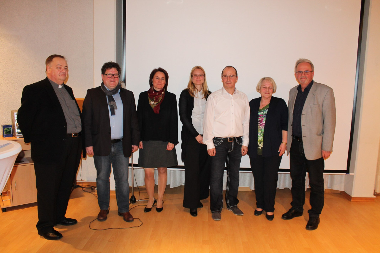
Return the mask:
[[[209,197],[210,157],[207,145],[187,133],[185,147],[185,208],[198,208],[201,199]]]

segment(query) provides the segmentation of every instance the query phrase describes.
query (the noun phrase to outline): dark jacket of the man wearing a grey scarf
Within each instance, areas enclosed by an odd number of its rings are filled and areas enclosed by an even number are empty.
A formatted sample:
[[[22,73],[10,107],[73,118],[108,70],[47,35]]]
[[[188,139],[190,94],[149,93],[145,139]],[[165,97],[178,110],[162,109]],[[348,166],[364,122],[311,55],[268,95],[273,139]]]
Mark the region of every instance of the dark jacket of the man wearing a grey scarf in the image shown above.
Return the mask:
[[[139,145],[140,131],[136,115],[135,96],[130,90],[120,89],[123,103],[123,154],[130,157],[132,145]],[[94,155],[107,156],[111,153],[111,125],[109,123],[107,96],[96,87],[87,90],[83,101],[84,145],[93,146]],[[116,110],[120,113],[120,110]]]

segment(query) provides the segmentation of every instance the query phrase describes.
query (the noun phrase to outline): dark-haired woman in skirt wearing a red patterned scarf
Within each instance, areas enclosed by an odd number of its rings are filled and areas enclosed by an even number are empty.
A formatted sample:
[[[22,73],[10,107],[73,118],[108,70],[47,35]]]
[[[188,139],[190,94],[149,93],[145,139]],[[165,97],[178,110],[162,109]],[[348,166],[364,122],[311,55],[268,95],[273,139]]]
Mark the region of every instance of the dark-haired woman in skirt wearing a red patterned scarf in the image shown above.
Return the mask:
[[[167,168],[176,166],[178,144],[178,116],[176,95],[168,92],[169,75],[163,68],[150,73],[147,92],[141,92],[137,105],[140,128],[139,167],[145,170],[145,187],[150,212],[154,199],[154,169],[158,171],[158,198],[156,211],[163,209],[163,195],[168,181]]]

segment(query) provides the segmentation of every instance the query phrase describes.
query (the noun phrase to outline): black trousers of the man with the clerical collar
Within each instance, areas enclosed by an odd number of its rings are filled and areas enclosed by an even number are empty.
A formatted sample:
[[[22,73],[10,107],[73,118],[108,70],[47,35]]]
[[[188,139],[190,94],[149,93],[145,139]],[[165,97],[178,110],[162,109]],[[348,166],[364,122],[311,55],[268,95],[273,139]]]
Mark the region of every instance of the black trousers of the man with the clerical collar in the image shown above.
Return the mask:
[[[37,230],[47,232],[66,214],[67,204],[78,171],[82,137],[69,137],[63,142],[59,159],[35,162],[37,188]]]

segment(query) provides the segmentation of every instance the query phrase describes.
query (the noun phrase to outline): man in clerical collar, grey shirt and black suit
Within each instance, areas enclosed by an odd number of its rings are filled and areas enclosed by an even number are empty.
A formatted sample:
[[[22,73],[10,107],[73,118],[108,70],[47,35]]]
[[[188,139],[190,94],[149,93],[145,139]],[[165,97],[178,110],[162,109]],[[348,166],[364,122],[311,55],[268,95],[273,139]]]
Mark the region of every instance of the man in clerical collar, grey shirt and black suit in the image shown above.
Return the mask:
[[[73,90],[63,83],[68,76],[65,57],[50,55],[45,65],[47,78],[22,91],[17,122],[34,161],[38,234],[57,240],[62,234],[55,225],[77,223],[65,214],[81,160],[81,112]]]

